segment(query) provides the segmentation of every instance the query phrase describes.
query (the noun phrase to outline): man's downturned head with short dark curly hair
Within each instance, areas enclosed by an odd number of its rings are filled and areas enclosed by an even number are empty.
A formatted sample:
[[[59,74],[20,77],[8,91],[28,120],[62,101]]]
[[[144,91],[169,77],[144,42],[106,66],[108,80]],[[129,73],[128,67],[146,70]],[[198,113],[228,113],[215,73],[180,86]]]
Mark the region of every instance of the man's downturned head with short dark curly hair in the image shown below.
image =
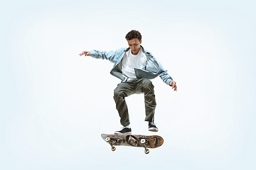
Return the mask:
[[[125,38],[127,39],[128,45],[132,50],[132,54],[137,55],[142,43],[141,33],[139,33],[138,30],[131,30],[129,33],[127,33]]]

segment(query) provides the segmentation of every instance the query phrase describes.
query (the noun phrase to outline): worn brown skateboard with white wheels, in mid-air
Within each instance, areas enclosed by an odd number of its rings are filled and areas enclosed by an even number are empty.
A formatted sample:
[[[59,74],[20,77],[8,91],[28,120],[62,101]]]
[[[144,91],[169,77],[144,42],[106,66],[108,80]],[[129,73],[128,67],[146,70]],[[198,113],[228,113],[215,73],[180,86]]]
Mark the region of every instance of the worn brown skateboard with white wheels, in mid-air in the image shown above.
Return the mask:
[[[145,154],[149,154],[148,148],[160,147],[164,144],[163,137],[159,135],[132,135],[132,134],[104,134],[101,135],[102,139],[108,142],[111,146],[112,151],[118,146],[129,146],[129,147],[144,147]]]

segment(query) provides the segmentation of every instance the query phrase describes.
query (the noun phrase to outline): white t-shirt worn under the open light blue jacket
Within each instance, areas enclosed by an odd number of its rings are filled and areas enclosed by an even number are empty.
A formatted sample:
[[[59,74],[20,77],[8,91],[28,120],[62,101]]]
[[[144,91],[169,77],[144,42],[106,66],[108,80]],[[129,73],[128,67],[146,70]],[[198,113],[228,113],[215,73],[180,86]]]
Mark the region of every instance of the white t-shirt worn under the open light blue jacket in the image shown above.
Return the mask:
[[[127,80],[136,78],[134,68],[143,69],[146,67],[146,55],[140,48],[137,55],[132,55],[132,50],[129,49],[122,59],[122,72],[129,77]]]

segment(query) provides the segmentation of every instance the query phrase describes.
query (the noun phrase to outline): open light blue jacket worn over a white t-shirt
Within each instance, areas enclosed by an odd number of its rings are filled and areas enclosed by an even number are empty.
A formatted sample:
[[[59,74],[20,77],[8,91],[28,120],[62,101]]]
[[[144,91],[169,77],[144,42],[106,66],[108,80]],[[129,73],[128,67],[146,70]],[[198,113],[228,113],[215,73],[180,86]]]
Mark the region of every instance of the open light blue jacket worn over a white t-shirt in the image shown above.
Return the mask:
[[[142,47],[142,46],[141,46]],[[125,52],[129,50],[128,48],[120,48],[116,51],[110,52],[102,52],[99,50],[90,51],[90,56],[102,59],[102,60],[110,60],[110,62],[114,63],[114,67],[110,71],[114,77],[121,79],[122,82],[127,81],[128,77],[122,74],[122,58],[124,57]],[[144,50],[142,47],[142,52],[146,55],[146,67],[144,69],[134,69],[137,78],[146,78],[146,79],[154,79],[159,76],[164,83],[168,84],[173,79],[167,73],[167,70],[162,67],[162,65],[155,59],[155,57],[151,54],[151,52]]]

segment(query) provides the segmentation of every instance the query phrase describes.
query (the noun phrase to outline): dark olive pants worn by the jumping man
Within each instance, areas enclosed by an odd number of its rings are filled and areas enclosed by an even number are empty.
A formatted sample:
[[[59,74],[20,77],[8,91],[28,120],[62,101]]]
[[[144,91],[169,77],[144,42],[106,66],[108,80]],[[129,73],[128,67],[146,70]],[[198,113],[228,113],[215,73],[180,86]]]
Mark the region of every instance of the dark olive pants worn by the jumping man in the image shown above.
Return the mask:
[[[114,89],[114,101],[119,113],[120,123],[123,126],[129,125],[129,114],[125,97],[132,94],[144,93],[144,103],[146,118],[145,121],[154,120],[154,112],[156,108],[156,99],[154,95],[154,85],[149,79],[133,79],[122,82]]]

